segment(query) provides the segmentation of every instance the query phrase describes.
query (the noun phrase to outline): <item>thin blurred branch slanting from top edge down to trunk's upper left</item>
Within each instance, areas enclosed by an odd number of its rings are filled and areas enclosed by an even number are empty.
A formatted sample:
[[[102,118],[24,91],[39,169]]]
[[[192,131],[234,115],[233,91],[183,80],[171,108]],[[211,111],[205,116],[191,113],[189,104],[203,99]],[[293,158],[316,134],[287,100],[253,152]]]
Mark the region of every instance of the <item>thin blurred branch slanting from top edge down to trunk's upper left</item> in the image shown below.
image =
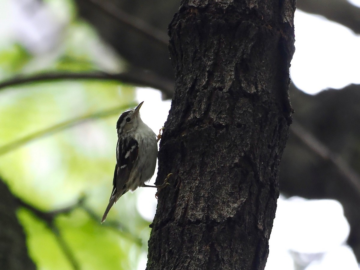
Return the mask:
[[[148,22],[145,22],[142,19],[133,15],[127,14],[126,12],[118,8],[116,5],[113,5],[108,1],[86,1],[97,6],[103,12],[107,13],[108,15],[116,19],[118,22],[124,24],[135,32],[140,33],[141,35],[147,37],[149,40],[152,40],[157,44],[165,46],[167,48],[169,43],[169,37],[167,36],[167,34],[153,26],[150,26]]]

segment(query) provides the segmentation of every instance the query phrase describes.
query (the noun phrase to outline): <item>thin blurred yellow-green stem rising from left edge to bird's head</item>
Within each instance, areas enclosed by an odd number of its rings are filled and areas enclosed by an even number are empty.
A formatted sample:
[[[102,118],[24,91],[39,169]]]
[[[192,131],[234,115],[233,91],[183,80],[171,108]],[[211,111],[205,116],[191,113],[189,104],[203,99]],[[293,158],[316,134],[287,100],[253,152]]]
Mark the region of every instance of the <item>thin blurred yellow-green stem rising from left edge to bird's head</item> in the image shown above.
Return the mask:
[[[109,109],[107,111],[100,111],[92,114],[86,114],[84,116],[75,117],[73,119],[70,119],[68,121],[56,124],[54,126],[50,126],[46,129],[34,132],[32,134],[29,134],[23,138],[17,139],[15,141],[12,141],[8,144],[5,144],[0,147],[0,155],[6,154],[18,147],[23,146],[24,144],[29,143],[30,141],[39,139],[44,136],[48,136],[57,132],[60,132],[62,130],[68,129],[70,127],[79,125],[83,122],[86,122],[90,119],[97,119],[97,118],[104,118],[108,117],[114,114],[118,114],[119,112],[122,112],[124,109],[128,108],[129,105],[121,105],[112,109]]]

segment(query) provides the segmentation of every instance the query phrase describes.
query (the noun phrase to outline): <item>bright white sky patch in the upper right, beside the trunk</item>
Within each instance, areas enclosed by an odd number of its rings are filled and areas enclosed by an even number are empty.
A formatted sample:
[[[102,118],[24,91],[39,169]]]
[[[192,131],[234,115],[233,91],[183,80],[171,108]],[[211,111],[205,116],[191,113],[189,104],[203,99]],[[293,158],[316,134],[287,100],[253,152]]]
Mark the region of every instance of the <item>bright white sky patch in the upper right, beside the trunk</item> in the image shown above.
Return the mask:
[[[360,2],[360,0],[357,0]],[[290,75],[309,94],[360,84],[360,36],[324,17],[295,12],[295,54]]]

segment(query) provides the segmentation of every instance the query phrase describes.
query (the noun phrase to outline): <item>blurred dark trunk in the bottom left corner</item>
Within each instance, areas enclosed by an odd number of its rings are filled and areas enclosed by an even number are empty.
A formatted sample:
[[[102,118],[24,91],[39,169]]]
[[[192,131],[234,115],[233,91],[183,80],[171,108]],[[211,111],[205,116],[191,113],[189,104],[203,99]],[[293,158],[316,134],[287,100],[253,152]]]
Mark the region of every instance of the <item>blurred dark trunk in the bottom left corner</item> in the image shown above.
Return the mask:
[[[0,269],[36,269],[29,258],[26,239],[16,217],[17,203],[0,178]]]

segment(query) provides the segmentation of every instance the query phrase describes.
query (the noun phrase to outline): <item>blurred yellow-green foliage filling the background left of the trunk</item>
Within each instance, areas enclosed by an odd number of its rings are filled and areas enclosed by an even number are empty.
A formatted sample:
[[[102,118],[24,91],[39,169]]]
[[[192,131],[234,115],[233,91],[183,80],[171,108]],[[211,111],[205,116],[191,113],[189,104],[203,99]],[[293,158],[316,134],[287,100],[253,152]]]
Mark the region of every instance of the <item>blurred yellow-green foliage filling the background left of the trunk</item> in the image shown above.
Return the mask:
[[[46,3],[70,19],[56,57],[44,61],[43,55],[41,59],[31,55],[16,41],[0,45],[0,80],[24,72],[121,69],[121,60],[111,51],[106,55],[106,45],[89,24],[76,19],[71,1]],[[136,269],[139,255],[147,249],[149,222],[136,210],[136,194],[122,197],[121,206],[114,207],[104,224],[97,219],[112,187],[115,123],[124,109],[134,105],[134,98],[133,87],[85,80],[32,83],[0,91],[0,148],[59,123],[118,107],[108,118],[89,119],[47,136],[35,134],[26,144],[0,154],[0,174],[6,184],[15,196],[39,210],[66,207],[86,196],[84,208],[59,214],[54,221],[80,269]],[[24,208],[18,218],[38,269],[74,268],[44,220]]]

